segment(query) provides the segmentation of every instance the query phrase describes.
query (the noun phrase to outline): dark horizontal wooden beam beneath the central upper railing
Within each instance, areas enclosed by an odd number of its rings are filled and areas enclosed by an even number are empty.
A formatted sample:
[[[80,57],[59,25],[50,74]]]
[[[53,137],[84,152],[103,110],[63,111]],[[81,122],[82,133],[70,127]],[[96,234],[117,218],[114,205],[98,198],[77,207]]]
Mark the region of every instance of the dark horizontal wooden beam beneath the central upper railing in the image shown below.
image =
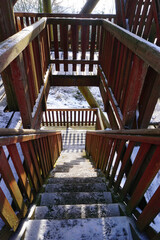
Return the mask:
[[[52,75],[50,86],[99,86],[99,77],[82,75]]]

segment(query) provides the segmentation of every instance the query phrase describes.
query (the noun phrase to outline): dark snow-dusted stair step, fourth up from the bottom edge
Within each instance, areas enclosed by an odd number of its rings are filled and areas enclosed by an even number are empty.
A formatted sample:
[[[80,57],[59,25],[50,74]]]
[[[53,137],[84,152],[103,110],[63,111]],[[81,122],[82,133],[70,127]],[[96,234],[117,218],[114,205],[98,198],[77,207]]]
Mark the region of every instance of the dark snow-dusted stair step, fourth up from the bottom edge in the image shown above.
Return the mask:
[[[106,192],[105,183],[47,184],[45,192]]]

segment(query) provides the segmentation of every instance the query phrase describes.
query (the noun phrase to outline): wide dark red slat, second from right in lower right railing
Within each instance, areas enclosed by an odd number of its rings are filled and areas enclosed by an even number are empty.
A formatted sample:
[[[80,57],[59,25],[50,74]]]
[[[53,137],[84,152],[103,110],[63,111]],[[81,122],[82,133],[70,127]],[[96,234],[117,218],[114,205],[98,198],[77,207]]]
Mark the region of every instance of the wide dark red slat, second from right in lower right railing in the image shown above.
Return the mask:
[[[152,180],[154,179],[155,175],[160,169],[160,146],[158,146],[147,166],[145,172],[143,173],[129,203],[127,206],[127,211],[129,213],[138,205],[141,201],[144,193],[148,189],[149,185],[151,184]]]

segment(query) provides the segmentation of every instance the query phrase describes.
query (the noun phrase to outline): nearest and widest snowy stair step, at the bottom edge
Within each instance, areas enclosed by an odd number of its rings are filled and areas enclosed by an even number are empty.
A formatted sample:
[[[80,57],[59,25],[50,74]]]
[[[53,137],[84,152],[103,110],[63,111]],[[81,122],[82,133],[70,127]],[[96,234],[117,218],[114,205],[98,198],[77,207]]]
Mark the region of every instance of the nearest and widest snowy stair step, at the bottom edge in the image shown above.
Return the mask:
[[[25,240],[131,240],[127,217],[68,220],[30,220]]]

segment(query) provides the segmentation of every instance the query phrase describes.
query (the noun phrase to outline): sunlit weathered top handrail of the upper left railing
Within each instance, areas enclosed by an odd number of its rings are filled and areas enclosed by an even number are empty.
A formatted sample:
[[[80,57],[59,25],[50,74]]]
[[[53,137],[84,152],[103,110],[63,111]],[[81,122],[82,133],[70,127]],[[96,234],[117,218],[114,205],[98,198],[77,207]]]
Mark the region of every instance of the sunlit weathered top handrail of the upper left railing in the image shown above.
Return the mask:
[[[42,18],[32,26],[0,43],[0,72],[2,72],[45,28],[47,18]]]

